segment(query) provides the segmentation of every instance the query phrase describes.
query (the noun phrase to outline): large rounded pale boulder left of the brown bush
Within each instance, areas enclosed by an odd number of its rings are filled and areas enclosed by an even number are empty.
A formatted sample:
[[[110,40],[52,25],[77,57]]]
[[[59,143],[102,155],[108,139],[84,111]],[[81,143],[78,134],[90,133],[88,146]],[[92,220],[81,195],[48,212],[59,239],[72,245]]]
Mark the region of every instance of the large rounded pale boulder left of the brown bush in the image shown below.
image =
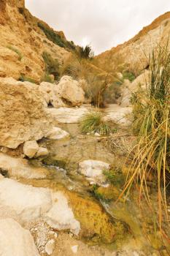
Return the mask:
[[[85,92],[79,83],[67,75],[61,78],[57,88],[61,98],[65,99],[72,106],[80,106],[85,101]]]

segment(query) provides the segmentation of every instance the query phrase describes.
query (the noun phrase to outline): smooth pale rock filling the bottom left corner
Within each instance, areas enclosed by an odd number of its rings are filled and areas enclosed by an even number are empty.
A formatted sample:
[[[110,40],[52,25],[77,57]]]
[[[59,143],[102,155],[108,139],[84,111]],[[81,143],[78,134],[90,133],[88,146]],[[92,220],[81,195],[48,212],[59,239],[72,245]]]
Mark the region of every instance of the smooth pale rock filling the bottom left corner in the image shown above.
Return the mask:
[[[0,255],[39,256],[39,252],[28,230],[13,219],[0,219]]]

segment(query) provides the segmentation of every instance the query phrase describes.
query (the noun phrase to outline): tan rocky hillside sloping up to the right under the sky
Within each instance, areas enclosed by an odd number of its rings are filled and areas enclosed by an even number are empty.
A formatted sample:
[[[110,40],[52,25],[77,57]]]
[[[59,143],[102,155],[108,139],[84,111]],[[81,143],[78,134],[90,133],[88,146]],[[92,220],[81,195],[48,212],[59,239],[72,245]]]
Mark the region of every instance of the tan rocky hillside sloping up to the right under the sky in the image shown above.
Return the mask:
[[[142,69],[148,67],[152,48],[159,42],[165,42],[169,37],[169,32],[170,12],[166,12],[149,26],[144,27],[128,42],[96,56],[94,63],[109,72],[114,72],[116,67],[120,67],[122,71],[121,68],[125,67],[135,75],[139,75]]]

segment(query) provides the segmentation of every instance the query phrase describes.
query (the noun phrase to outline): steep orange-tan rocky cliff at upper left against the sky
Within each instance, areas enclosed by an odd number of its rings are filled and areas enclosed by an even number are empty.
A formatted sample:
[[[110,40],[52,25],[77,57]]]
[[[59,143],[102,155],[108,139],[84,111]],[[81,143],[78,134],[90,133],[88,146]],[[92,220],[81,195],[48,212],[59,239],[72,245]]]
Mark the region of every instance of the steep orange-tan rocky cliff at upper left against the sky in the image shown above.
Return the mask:
[[[76,47],[62,31],[34,18],[24,0],[1,0],[0,34],[0,77],[16,80],[38,83],[45,75],[43,53],[61,65]]]

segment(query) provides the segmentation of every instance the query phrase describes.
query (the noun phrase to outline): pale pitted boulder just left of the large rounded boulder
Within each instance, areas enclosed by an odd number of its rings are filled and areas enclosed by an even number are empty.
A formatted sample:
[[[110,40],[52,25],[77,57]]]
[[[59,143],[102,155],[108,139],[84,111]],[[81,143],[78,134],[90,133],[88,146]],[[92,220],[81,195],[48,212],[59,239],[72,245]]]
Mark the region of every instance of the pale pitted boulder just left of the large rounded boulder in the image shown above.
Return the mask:
[[[65,106],[55,84],[42,82],[39,86],[39,91],[44,95],[44,99],[47,104],[53,105],[54,108]]]

